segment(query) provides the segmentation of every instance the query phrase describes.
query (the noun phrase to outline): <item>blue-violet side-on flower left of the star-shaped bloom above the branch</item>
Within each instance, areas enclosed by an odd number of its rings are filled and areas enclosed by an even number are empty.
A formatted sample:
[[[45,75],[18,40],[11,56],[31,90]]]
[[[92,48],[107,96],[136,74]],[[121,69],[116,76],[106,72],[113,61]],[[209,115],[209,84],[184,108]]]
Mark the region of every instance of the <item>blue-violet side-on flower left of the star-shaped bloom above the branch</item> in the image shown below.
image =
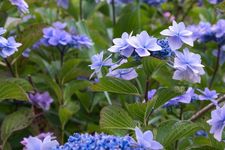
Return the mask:
[[[177,106],[179,103],[189,104],[194,96],[194,89],[189,87],[183,95],[172,98],[166,102],[163,107]]]

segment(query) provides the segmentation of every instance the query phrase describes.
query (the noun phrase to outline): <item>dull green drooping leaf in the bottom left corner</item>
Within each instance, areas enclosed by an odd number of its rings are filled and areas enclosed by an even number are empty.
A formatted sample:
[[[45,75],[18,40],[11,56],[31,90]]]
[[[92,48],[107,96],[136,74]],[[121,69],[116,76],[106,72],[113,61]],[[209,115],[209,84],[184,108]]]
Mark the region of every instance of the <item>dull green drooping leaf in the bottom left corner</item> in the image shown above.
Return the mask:
[[[3,145],[5,145],[7,139],[13,132],[28,127],[32,123],[33,118],[34,116],[30,109],[20,109],[6,116],[1,126]]]

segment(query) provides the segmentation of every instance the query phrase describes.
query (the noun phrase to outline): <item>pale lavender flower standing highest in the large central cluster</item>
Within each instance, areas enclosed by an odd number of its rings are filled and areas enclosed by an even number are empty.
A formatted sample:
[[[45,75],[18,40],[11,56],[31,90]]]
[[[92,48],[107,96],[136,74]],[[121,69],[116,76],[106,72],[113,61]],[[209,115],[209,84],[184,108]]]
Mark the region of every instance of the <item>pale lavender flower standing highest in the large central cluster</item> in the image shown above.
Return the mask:
[[[160,34],[168,36],[169,46],[172,50],[181,48],[183,43],[193,46],[192,32],[186,29],[183,22],[177,24],[176,21],[173,21],[173,25]]]

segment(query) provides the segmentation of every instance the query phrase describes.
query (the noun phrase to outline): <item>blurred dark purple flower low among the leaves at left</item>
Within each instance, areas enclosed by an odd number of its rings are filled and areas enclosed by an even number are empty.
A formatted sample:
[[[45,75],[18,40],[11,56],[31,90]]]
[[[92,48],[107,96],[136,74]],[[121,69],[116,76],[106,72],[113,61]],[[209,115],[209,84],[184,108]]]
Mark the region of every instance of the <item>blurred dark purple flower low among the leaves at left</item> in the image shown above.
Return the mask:
[[[44,93],[29,93],[29,99],[30,102],[37,106],[40,107],[44,110],[49,110],[51,103],[53,102],[52,97],[49,95],[48,92]]]

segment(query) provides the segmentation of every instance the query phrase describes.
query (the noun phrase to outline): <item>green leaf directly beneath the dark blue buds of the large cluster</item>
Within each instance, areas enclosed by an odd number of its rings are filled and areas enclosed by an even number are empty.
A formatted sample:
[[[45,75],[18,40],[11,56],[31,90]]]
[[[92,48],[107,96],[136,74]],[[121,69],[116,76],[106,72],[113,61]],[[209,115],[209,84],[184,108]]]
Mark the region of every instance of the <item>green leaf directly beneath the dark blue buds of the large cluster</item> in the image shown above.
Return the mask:
[[[142,64],[147,77],[150,77],[154,72],[165,65],[163,60],[154,57],[144,57],[142,59]]]

